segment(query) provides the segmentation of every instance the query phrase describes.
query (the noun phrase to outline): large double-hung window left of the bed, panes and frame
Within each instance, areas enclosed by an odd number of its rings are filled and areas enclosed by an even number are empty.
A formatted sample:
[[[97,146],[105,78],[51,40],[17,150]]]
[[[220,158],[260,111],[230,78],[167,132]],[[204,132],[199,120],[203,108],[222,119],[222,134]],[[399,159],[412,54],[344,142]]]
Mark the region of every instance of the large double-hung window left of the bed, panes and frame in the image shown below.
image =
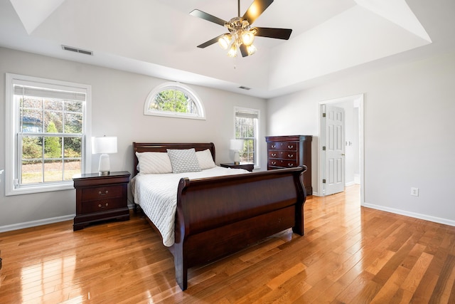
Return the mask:
[[[90,85],[6,74],[6,195],[73,189],[89,167]]]

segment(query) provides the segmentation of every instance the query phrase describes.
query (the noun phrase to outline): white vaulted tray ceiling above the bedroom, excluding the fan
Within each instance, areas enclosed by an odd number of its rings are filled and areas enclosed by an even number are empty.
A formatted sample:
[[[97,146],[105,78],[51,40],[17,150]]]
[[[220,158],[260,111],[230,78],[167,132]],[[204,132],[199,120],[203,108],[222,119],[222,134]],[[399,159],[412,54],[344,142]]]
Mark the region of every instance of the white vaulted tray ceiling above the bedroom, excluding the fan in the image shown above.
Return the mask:
[[[291,38],[257,37],[257,53],[234,59],[196,48],[227,31],[193,9],[229,20],[237,1],[0,0],[0,46],[262,98],[455,48],[453,0],[276,0],[254,25]]]

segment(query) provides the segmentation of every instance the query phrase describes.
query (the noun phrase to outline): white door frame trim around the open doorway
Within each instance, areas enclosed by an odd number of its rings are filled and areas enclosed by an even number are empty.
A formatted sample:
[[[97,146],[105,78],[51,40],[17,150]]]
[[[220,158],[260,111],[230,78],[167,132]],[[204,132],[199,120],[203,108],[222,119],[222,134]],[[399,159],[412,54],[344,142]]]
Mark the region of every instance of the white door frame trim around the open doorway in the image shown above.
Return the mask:
[[[325,144],[323,142],[323,132],[325,129],[323,128],[323,121],[322,121],[322,113],[324,105],[327,104],[336,104],[336,103],[343,103],[346,101],[352,100],[353,101],[353,108],[358,108],[358,142],[359,142],[359,173],[360,173],[360,205],[363,206],[365,204],[365,146],[364,146],[364,129],[365,129],[365,119],[364,119],[364,94],[358,95],[350,95],[342,98],[335,98],[331,100],[322,100],[318,103],[318,120],[319,120],[319,145],[318,145],[318,195],[323,196],[323,184],[322,184],[322,177],[323,177],[323,159],[322,155],[322,147]]]

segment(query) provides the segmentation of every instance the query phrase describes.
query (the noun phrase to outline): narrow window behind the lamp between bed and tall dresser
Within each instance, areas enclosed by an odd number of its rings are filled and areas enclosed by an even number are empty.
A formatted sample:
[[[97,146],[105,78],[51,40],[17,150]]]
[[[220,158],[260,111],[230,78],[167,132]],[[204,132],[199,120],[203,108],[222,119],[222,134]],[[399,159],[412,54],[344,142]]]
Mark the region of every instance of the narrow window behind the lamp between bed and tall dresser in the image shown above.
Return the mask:
[[[259,110],[235,108],[235,139],[243,140],[240,162],[259,167]]]

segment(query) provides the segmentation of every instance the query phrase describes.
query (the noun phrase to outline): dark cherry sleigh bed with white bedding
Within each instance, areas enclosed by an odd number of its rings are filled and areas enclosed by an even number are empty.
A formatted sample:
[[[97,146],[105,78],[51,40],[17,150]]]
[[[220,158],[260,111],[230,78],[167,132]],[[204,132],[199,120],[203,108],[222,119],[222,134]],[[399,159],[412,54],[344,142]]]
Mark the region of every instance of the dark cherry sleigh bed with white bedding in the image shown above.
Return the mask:
[[[147,195],[139,192],[141,187],[148,187],[144,184],[147,183],[147,179],[161,176],[178,178],[195,173],[196,175],[193,176],[198,177],[201,176],[200,174],[219,168],[215,166],[213,143],[133,142],[133,148],[132,192],[135,209],[139,206],[143,211],[149,208],[148,205],[156,204],[151,203]],[[198,157],[201,154],[205,157],[210,155],[210,162],[213,161],[215,167],[203,169],[201,172],[183,173],[183,175],[145,174],[141,169],[145,167],[142,165],[146,164],[142,160],[144,155],[162,157],[168,150],[192,148],[198,152]],[[202,162],[200,158],[199,162]],[[305,166],[262,172],[228,170],[230,171],[227,174],[230,175],[191,177],[191,179],[181,177],[176,181],[177,191],[176,196],[173,196],[176,197],[175,214],[173,209],[170,212],[173,216],[171,238],[158,228],[163,226],[162,223],[156,223],[151,219],[160,220],[163,215],[147,214],[144,211],[149,222],[157,228],[163,237],[164,244],[173,254],[176,281],[182,290],[186,290],[188,286],[188,268],[228,256],[285,229],[292,228],[294,233],[301,236],[304,234],[303,209],[306,193],[301,175],[306,170]],[[239,170],[238,173],[235,170]],[[155,184],[156,189],[160,189],[161,182],[156,182],[154,179],[151,183]],[[160,212],[169,213],[166,210]]]

